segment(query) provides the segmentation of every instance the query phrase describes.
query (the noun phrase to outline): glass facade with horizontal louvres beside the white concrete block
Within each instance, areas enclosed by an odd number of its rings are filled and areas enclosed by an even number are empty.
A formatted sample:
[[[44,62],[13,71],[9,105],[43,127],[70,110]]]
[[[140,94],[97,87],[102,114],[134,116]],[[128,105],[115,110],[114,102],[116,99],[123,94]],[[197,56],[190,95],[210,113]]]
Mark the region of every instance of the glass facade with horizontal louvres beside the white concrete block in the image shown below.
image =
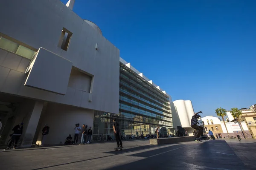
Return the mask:
[[[120,125],[126,139],[130,136],[154,134],[157,127],[161,134],[173,129],[169,96],[156,89],[143,77],[120,62],[119,114],[95,111],[93,140],[99,135],[114,139],[113,118]]]

